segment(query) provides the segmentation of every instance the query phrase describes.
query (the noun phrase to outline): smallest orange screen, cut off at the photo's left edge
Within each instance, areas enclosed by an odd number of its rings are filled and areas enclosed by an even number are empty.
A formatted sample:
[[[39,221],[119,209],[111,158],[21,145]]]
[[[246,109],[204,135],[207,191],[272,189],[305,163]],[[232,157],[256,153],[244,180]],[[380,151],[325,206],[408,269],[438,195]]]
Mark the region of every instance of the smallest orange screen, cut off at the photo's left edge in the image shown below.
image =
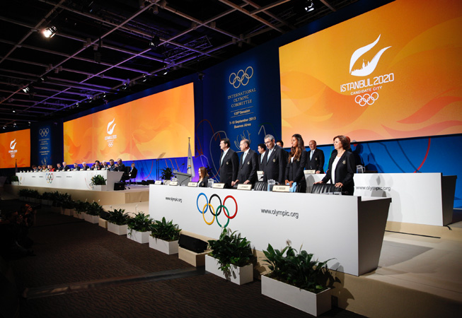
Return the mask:
[[[0,134],[0,168],[30,167],[30,129]]]

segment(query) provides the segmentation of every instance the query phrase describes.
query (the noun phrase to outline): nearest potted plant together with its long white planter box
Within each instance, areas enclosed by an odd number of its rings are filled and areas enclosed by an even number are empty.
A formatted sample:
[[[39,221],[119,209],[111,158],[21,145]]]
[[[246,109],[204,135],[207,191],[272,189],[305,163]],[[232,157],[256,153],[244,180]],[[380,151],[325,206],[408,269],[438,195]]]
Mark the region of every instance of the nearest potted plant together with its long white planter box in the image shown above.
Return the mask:
[[[270,273],[262,276],[262,294],[318,316],[331,308],[330,275],[327,263],[313,259],[313,254],[287,245],[274,249],[268,244],[265,262]]]

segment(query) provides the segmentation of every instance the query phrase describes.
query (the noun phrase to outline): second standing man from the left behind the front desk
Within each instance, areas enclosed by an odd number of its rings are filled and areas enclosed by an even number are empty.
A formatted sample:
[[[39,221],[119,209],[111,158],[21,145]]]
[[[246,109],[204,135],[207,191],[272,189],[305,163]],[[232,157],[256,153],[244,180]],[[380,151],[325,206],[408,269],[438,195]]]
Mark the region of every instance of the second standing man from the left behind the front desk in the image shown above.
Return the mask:
[[[242,151],[239,159],[238,178],[231,182],[231,186],[235,184],[254,184],[257,181],[258,155],[250,149],[250,141],[248,139],[241,140],[239,145]]]

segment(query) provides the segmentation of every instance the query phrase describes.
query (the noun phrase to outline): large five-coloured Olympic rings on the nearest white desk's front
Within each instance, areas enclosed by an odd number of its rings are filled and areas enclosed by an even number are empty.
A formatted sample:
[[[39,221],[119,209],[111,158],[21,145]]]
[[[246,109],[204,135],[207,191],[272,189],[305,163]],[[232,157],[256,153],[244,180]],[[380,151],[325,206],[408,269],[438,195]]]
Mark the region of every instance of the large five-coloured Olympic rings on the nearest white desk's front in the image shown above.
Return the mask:
[[[204,197],[201,198],[201,196],[204,196]],[[228,204],[229,206],[226,206],[226,200],[228,199],[232,199],[234,201],[234,204],[232,204],[231,202],[231,204]],[[221,198],[218,194],[212,194],[210,198],[207,198],[207,196],[202,192],[197,196],[196,206],[197,206],[197,211],[199,211],[199,213],[202,213],[202,218],[204,218],[204,222],[207,223],[207,225],[212,225],[216,219],[216,223],[219,225],[220,228],[226,228],[226,226],[228,226],[229,224],[229,220],[231,220],[231,218],[236,218],[236,215],[238,213],[238,203],[236,199],[234,199],[233,196],[226,196],[224,200],[221,201]],[[216,206],[216,209],[215,209],[215,206]],[[207,221],[205,219],[205,213],[209,211],[209,208],[210,208],[210,213],[212,214],[211,221]],[[233,208],[234,208],[234,213],[231,216],[231,213],[229,213],[229,211],[233,211]],[[221,223],[218,220],[218,217],[221,214],[221,211],[223,211],[224,216],[226,216],[226,218],[228,219],[225,225],[221,225]]]

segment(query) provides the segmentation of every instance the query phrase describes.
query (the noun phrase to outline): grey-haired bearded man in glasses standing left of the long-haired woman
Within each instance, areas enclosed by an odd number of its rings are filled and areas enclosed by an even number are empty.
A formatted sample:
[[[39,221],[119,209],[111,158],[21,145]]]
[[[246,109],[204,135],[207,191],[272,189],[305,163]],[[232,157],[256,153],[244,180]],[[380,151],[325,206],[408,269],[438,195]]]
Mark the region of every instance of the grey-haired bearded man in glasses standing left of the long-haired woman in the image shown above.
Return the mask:
[[[262,160],[264,164],[263,181],[273,179],[279,182],[279,184],[284,184],[287,162],[284,160],[283,150],[281,147],[277,146],[275,137],[272,135],[265,136],[265,144],[267,146],[267,151],[265,151],[265,156]]]

